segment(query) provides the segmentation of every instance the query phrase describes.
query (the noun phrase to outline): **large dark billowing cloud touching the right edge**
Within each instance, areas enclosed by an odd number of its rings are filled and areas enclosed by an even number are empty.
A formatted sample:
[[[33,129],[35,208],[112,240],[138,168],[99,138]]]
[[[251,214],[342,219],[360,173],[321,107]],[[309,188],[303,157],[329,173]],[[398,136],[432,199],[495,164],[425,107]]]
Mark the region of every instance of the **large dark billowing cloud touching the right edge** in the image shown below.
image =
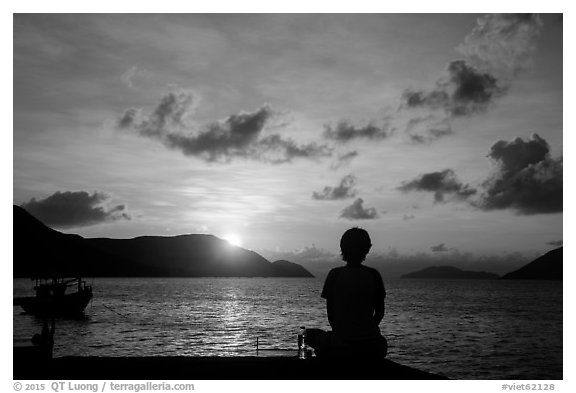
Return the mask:
[[[497,171],[488,178],[478,206],[484,210],[513,209],[518,214],[562,211],[562,158],[553,159],[548,143],[534,134],[528,141],[498,141],[488,155]]]

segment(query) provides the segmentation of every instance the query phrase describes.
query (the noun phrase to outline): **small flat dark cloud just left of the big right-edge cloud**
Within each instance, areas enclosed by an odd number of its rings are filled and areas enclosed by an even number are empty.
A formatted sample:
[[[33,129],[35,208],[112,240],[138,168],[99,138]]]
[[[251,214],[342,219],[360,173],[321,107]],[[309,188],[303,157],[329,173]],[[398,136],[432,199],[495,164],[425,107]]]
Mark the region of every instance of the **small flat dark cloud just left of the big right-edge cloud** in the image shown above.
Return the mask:
[[[474,188],[462,184],[452,169],[420,175],[410,182],[403,183],[398,189],[403,192],[433,192],[436,203],[444,203],[453,199],[465,200],[476,193]]]

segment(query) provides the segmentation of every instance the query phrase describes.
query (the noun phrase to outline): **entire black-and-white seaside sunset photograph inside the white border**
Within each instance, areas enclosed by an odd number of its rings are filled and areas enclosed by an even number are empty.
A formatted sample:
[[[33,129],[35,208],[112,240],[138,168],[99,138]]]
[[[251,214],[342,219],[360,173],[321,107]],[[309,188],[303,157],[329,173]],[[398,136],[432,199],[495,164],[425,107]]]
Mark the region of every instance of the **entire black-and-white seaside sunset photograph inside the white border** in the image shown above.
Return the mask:
[[[328,11],[12,15],[14,380],[568,376],[563,14]]]

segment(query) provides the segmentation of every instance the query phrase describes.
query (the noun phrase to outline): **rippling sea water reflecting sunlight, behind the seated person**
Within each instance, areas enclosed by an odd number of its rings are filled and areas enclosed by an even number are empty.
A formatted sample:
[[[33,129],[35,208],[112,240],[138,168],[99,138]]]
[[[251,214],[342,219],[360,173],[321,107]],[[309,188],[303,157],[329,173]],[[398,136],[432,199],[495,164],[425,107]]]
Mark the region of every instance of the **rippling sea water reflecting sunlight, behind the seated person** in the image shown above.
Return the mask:
[[[55,356],[296,353],[301,325],[329,329],[323,281],[97,278],[84,318],[56,320]],[[15,279],[14,296],[33,282]],[[388,358],[455,379],[562,379],[562,282],[385,280]],[[14,307],[14,339],[42,321]]]

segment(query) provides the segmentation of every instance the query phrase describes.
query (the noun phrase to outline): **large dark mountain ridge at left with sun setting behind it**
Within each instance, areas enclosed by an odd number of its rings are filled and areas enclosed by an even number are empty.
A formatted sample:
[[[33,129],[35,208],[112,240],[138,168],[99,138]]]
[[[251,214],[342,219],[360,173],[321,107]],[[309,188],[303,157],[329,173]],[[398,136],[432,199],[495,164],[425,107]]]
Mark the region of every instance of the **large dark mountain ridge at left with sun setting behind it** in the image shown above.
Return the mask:
[[[13,234],[15,278],[313,277],[296,263],[271,263],[213,235],[86,239],[51,229],[16,205]]]

